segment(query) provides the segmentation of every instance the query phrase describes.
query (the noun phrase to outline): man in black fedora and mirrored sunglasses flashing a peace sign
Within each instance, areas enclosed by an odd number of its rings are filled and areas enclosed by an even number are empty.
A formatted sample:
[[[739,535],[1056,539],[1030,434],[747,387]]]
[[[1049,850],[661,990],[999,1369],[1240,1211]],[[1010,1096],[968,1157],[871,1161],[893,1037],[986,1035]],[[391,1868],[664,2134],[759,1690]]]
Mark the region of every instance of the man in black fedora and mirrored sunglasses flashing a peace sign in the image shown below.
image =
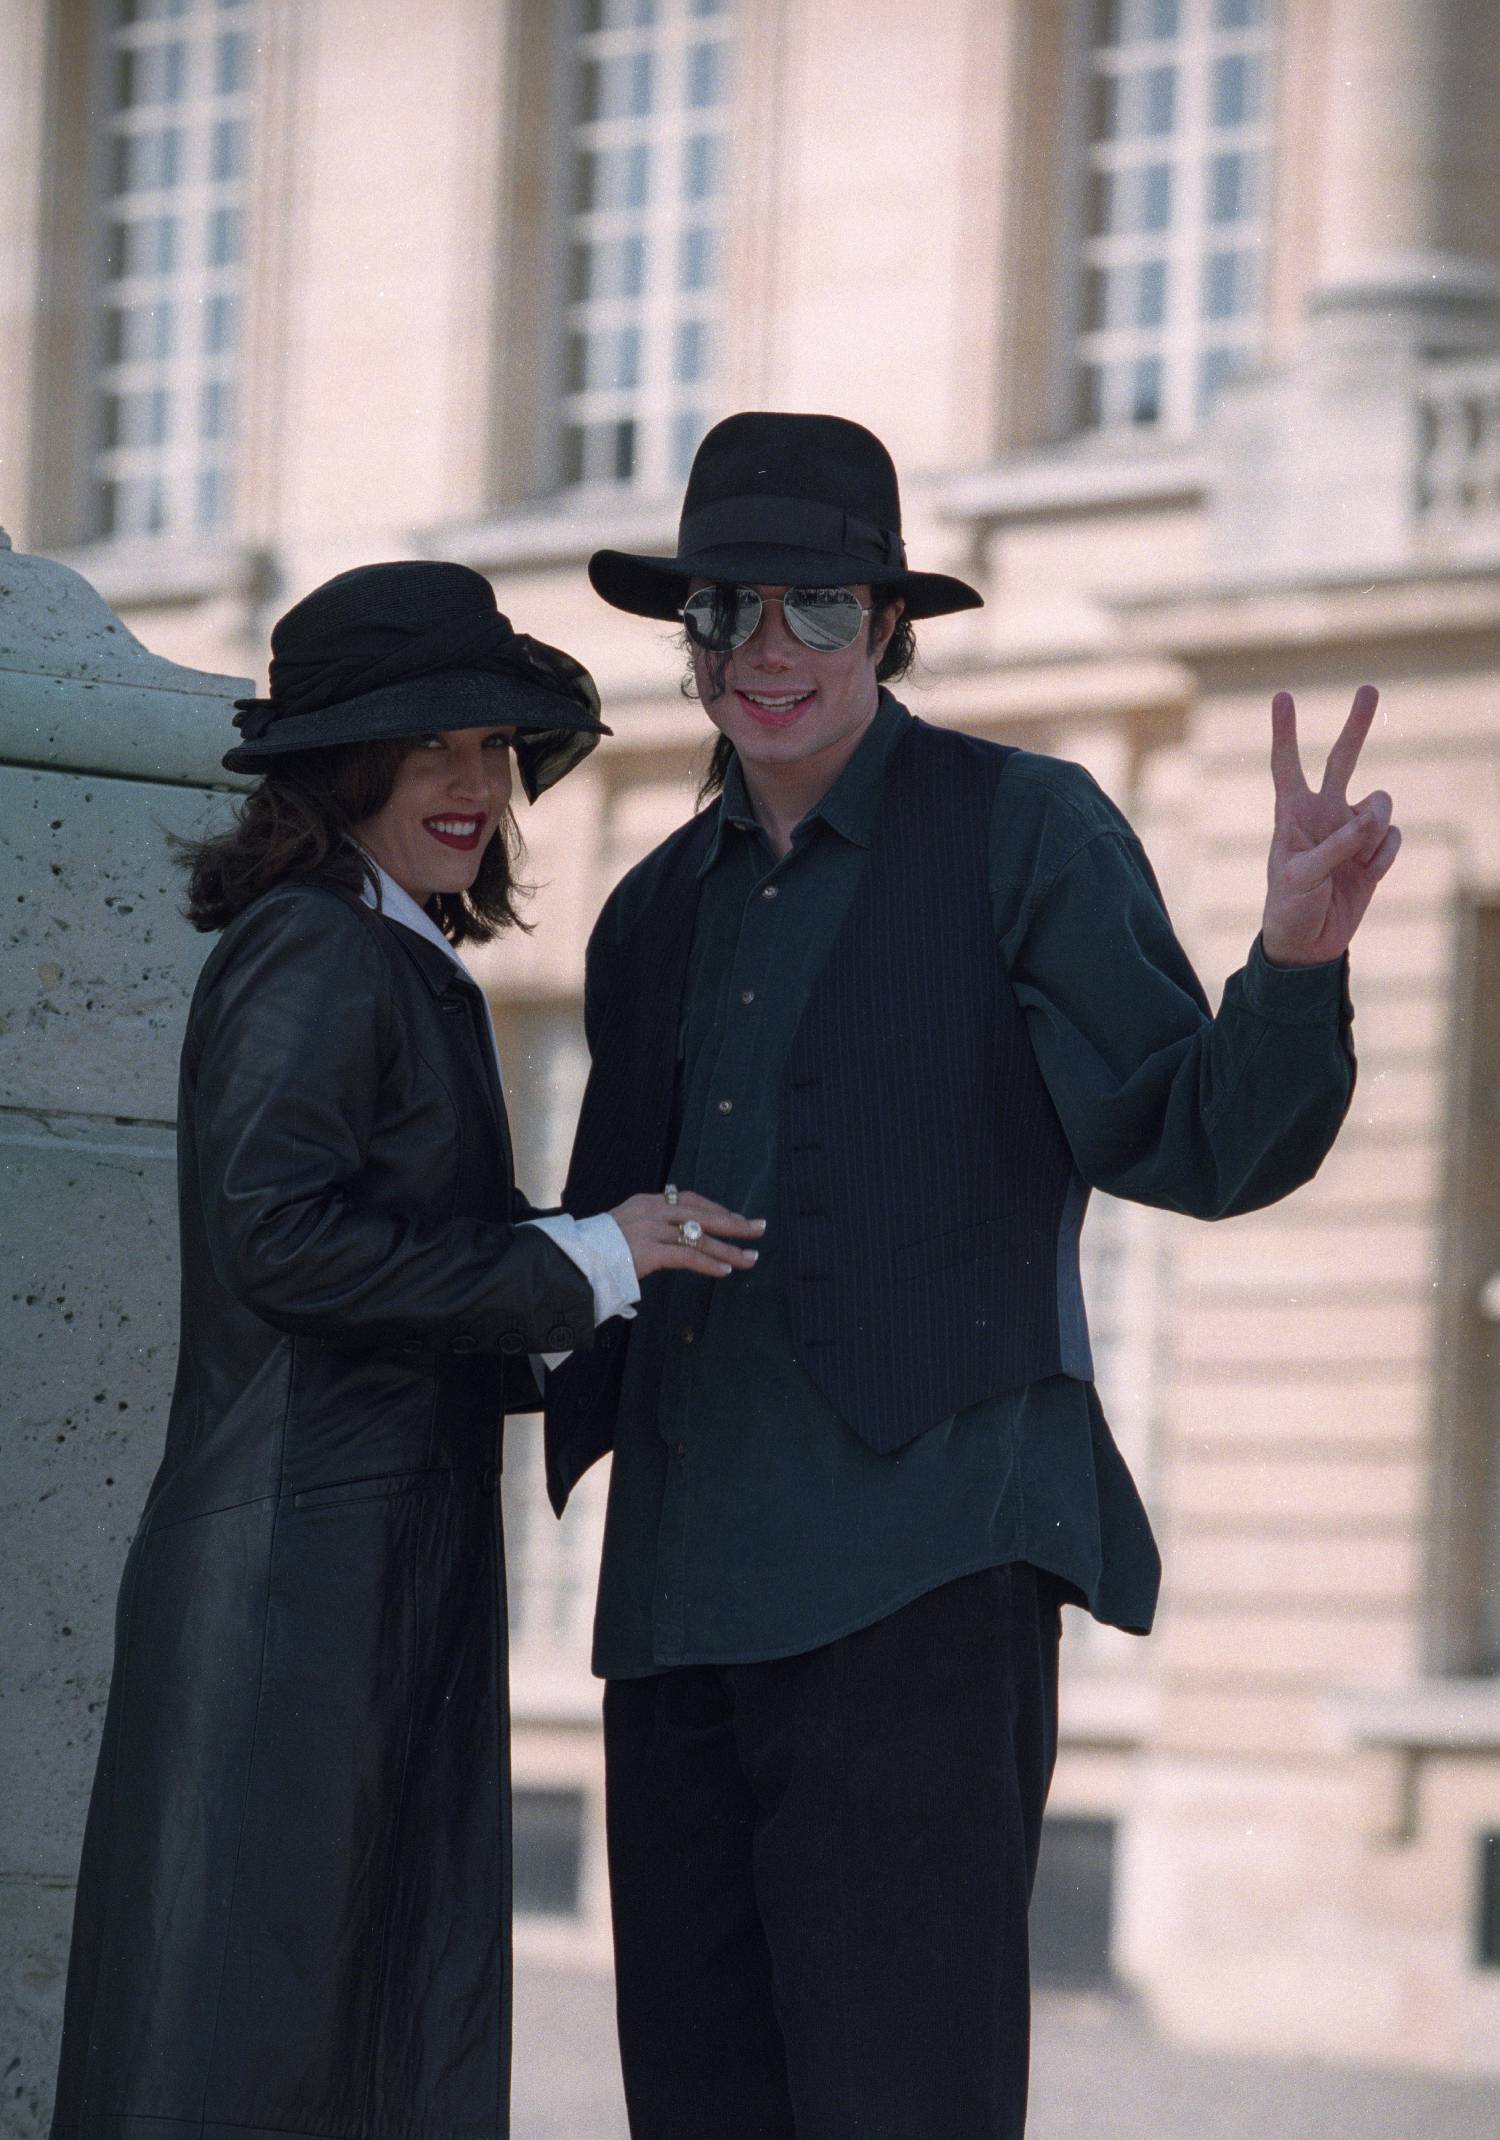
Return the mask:
[[[764,1216],[548,1391],[556,1507],[614,1449],[595,1629],[636,2140],[1010,2140],[1059,1605],[1145,1633],[1160,1562],[1091,1382],[1089,1188],[1224,1218],[1320,1164],[1346,950],[1399,835],[1273,706],[1262,931],[1218,1017],[1078,766],[914,719],[914,571],[858,424],[734,415],[676,556],[708,790],[588,948],[569,1211]]]

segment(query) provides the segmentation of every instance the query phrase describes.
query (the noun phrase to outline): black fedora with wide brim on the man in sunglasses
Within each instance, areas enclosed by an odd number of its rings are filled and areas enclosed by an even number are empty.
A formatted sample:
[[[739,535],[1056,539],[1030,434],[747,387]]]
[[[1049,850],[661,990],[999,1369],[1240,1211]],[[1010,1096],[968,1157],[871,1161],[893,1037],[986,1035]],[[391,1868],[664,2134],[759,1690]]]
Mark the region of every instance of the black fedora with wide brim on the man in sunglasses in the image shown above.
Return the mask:
[[[841,415],[728,415],[693,456],[676,556],[595,550],[595,593],[636,616],[678,616],[693,580],[890,588],[907,616],[978,610],[944,571],[912,571],[901,490],[873,430]]]

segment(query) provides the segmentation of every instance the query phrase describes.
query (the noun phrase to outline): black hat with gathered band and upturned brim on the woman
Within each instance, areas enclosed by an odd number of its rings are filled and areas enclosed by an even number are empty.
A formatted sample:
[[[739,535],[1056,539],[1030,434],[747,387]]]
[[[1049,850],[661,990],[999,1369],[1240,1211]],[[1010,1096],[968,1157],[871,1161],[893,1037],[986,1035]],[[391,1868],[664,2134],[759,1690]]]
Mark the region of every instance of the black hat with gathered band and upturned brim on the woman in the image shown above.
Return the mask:
[[[355,565],[304,595],[272,629],[270,698],[235,700],[233,773],[345,743],[445,728],[514,728],[535,802],[610,730],[571,655],[514,631],[469,565]]]

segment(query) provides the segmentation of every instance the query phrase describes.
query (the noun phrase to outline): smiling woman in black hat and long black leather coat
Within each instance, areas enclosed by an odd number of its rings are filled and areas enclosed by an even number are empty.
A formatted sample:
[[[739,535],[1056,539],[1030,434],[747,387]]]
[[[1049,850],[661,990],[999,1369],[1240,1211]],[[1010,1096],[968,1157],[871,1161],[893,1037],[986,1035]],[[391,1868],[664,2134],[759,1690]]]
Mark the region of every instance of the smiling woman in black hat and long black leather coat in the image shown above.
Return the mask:
[[[516,920],[535,800],[608,730],[479,574],[374,565],[272,636],[186,856],[223,935],[182,1051],[182,1350],[131,1547],[53,2140],[503,2136],[501,1415],[655,1269],[687,1192],[539,1218],[456,944]],[[672,1192],[676,1196],[676,1192]]]

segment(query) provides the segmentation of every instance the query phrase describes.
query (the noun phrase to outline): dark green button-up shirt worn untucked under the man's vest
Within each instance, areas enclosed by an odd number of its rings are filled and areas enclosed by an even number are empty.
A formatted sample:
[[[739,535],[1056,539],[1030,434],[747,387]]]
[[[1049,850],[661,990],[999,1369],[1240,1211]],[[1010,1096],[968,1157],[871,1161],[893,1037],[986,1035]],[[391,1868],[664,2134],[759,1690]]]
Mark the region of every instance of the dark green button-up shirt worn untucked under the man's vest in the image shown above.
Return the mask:
[[[768,1226],[753,1271],[663,1271],[642,1288],[610,1477],[601,1678],[792,1656],[1010,1560],[1051,1569],[1100,1620],[1151,1624],[1160,1560],[1091,1382],[1051,1376],[877,1455],[792,1350],[781,1070],[907,719],[882,693],[781,860],[730,766],[702,867],[670,1173]],[[1305,1179],[1352,1081],[1344,961],[1284,972],[1256,948],[1211,1019],[1126,820],[1078,766],[1029,751],[999,785],[991,914],[1089,1183],[1224,1216]]]

